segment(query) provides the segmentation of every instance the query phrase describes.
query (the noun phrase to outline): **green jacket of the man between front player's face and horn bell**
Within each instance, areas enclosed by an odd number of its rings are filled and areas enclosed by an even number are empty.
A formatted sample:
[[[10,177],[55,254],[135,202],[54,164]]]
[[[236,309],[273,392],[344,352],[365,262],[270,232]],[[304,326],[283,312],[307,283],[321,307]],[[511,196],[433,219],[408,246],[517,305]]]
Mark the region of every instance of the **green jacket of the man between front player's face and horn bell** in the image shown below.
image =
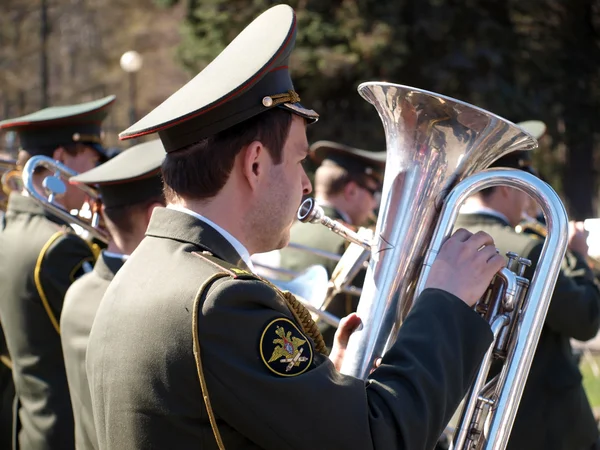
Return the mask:
[[[323,206],[325,214],[334,220],[343,221],[341,214],[334,208]],[[348,247],[348,242],[338,234],[333,233],[322,225],[297,222],[292,226],[290,242],[301,244],[306,247],[324,250],[336,255],[342,255]],[[331,278],[337,261],[323,258],[313,253],[286,247],[281,250],[281,267],[294,272],[302,272],[312,265],[321,265],[327,269],[327,275]],[[365,271],[362,270],[353,280],[352,284],[362,287]],[[333,315],[343,318],[356,311],[359,298],[355,295],[338,294],[326,308]],[[333,344],[335,327],[324,322],[319,322],[319,329],[328,346]]]

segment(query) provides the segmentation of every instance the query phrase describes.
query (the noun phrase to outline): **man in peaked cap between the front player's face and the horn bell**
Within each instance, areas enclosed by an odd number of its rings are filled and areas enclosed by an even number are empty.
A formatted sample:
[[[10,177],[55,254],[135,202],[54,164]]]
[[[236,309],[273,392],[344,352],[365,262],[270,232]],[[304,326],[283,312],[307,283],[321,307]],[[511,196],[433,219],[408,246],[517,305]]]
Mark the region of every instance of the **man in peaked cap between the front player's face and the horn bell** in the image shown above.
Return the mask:
[[[315,199],[325,214],[346,223],[355,230],[367,225],[379,206],[383,182],[386,152],[370,152],[330,141],[318,141],[311,145],[309,158],[319,167],[315,172]],[[290,231],[290,242],[304,247],[324,250],[342,255],[348,242],[326,227],[296,222]],[[280,265],[284,269],[300,272],[318,264],[327,269],[331,277],[337,261],[314,253],[283,248]],[[353,284],[362,287],[365,271],[359,273]],[[337,317],[356,311],[358,296],[338,294],[326,308]],[[333,344],[336,328],[319,322],[328,347]]]

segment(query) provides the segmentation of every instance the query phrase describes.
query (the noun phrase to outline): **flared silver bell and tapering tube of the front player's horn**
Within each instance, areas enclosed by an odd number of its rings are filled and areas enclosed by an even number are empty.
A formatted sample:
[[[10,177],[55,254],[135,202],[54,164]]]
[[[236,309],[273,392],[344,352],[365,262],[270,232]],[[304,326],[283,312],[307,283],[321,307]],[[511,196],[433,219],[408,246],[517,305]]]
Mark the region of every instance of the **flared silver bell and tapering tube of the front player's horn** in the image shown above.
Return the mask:
[[[468,103],[390,83],[364,83],[361,96],[383,122],[387,159],[381,207],[358,315],[342,372],[365,378],[410,311],[416,280],[444,200],[461,180],[533,137]],[[389,340],[389,342],[388,342]]]

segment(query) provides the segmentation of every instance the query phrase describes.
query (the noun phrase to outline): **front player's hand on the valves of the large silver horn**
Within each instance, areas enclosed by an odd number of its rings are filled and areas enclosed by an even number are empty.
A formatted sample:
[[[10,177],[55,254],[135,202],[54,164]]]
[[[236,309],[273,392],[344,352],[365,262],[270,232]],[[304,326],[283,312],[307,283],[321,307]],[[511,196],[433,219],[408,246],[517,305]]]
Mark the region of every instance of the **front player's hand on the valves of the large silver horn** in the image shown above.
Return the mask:
[[[473,306],[505,264],[489,234],[461,228],[442,245],[425,287],[450,292]]]

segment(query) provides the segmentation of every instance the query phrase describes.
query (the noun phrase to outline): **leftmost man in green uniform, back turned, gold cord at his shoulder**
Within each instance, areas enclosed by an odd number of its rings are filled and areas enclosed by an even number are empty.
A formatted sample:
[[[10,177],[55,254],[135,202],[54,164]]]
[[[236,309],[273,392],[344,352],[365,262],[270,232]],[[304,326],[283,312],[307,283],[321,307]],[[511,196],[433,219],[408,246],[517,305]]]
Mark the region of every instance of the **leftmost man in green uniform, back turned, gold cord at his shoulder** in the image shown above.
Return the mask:
[[[94,102],[46,108],[0,122],[16,131],[20,166],[34,155],[48,156],[75,171],[105,159],[101,124],[114,96]],[[52,173],[38,168],[36,189]],[[68,187],[57,199],[79,209],[85,194]],[[71,283],[95,260],[93,249],[68,221],[52,214],[26,192],[12,192],[0,232],[0,320],[10,352],[18,401],[15,448],[74,448],[73,413],[60,343],[63,298]]]

